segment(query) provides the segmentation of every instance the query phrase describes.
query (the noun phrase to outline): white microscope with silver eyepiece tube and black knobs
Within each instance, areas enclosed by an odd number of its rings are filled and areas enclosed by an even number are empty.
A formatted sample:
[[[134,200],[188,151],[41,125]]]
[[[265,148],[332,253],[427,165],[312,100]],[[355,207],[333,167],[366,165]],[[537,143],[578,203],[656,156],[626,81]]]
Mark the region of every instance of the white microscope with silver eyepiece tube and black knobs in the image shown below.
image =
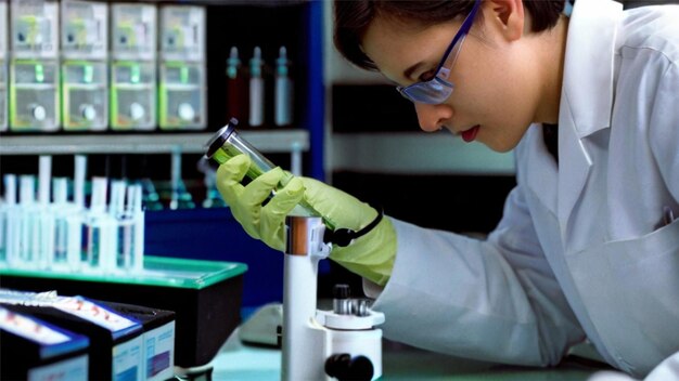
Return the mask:
[[[332,311],[317,310],[318,263],[330,253],[321,218],[289,216],[284,259],[284,381],[375,380],[382,376],[384,314],[335,288]]]

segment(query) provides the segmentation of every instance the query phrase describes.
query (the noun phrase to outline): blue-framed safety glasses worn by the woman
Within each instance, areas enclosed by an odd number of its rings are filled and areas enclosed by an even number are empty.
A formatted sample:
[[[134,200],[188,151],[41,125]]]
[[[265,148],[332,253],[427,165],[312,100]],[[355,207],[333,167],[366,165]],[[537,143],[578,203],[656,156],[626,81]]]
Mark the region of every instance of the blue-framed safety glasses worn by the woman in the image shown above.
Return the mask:
[[[458,30],[452,38],[452,42],[450,42],[446,53],[444,53],[444,57],[440,64],[438,64],[434,77],[427,81],[413,83],[405,88],[396,88],[403,97],[415,103],[438,105],[446,102],[450,94],[452,94],[454,84],[448,80],[448,77],[450,77],[450,70],[458,58],[460,49],[462,49],[462,42],[464,42],[464,38],[472,28],[472,24],[474,24],[474,16],[476,15],[479,4],[481,0],[476,0],[472,12],[470,12],[464,18],[464,22],[462,22],[462,27],[460,27],[460,30]]]

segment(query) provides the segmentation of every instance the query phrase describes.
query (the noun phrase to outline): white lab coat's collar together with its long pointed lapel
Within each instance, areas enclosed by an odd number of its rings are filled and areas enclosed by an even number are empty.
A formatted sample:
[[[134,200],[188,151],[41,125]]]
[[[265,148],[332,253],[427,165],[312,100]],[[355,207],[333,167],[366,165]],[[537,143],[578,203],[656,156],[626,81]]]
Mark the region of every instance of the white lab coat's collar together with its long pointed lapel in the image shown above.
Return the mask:
[[[573,208],[593,165],[584,139],[611,127],[616,31],[622,16],[622,5],[611,0],[578,1],[571,16],[559,109],[559,155],[563,159],[556,214],[564,242],[568,241]]]

